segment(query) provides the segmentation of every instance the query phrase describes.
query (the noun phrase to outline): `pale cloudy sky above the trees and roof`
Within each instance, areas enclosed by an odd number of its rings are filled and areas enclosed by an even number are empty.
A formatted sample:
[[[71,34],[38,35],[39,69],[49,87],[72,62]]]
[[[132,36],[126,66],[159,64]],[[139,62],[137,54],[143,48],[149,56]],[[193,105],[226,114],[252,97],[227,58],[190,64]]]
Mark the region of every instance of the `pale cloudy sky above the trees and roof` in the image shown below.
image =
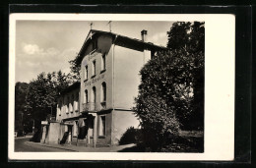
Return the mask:
[[[106,21],[93,22],[93,28],[109,31]],[[70,72],[68,61],[80,51],[91,22],[87,21],[17,21],[15,81],[30,83],[41,72]],[[173,22],[111,22],[111,31],[141,39],[148,30],[148,41],[166,46],[167,31]]]

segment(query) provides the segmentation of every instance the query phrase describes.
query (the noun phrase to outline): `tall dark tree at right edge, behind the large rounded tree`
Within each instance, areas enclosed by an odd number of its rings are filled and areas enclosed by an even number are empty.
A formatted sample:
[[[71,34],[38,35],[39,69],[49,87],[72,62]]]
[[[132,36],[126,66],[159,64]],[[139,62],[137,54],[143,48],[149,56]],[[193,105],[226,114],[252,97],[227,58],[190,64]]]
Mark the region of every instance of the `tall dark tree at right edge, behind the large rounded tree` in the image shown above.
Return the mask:
[[[167,47],[171,50],[185,50],[193,56],[193,106],[190,116],[184,120],[185,129],[204,129],[204,81],[205,81],[205,23],[177,22],[168,34]]]

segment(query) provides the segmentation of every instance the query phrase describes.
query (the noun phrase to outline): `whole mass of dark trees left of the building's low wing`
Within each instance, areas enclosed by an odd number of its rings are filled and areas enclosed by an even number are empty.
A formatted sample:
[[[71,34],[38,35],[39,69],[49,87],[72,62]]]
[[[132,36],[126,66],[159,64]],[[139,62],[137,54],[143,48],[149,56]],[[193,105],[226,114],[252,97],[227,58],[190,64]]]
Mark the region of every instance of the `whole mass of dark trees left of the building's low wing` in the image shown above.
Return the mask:
[[[40,122],[47,115],[56,114],[57,97],[61,90],[72,84],[73,79],[61,71],[52,73],[41,73],[30,84],[16,84],[16,129],[24,125],[26,133],[32,132],[34,122],[35,128],[40,128]]]

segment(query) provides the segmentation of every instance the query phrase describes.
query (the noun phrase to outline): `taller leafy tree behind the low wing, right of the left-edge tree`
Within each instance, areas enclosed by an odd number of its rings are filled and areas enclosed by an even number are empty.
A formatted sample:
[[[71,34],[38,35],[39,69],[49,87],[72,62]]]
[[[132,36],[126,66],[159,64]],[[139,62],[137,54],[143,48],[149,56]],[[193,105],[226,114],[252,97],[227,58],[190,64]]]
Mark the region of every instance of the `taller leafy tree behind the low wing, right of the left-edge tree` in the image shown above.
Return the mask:
[[[41,73],[30,83],[26,109],[27,115],[34,120],[35,128],[40,128],[40,122],[47,115],[56,114],[57,97],[61,90],[72,84],[71,79],[70,74],[65,75],[59,71],[57,74]]]

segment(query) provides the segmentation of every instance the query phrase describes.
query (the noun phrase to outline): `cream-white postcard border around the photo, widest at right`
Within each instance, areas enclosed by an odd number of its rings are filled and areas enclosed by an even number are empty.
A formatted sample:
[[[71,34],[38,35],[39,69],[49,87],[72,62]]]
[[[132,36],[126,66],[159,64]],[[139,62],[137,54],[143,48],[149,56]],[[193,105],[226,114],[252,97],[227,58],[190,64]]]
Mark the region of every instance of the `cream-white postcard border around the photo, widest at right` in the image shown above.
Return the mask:
[[[15,152],[16,21],[204,21],[205,152]],[[12,160],[233,160],[235,17],[228,14],[11,14],[9,33],[8,156]]]

